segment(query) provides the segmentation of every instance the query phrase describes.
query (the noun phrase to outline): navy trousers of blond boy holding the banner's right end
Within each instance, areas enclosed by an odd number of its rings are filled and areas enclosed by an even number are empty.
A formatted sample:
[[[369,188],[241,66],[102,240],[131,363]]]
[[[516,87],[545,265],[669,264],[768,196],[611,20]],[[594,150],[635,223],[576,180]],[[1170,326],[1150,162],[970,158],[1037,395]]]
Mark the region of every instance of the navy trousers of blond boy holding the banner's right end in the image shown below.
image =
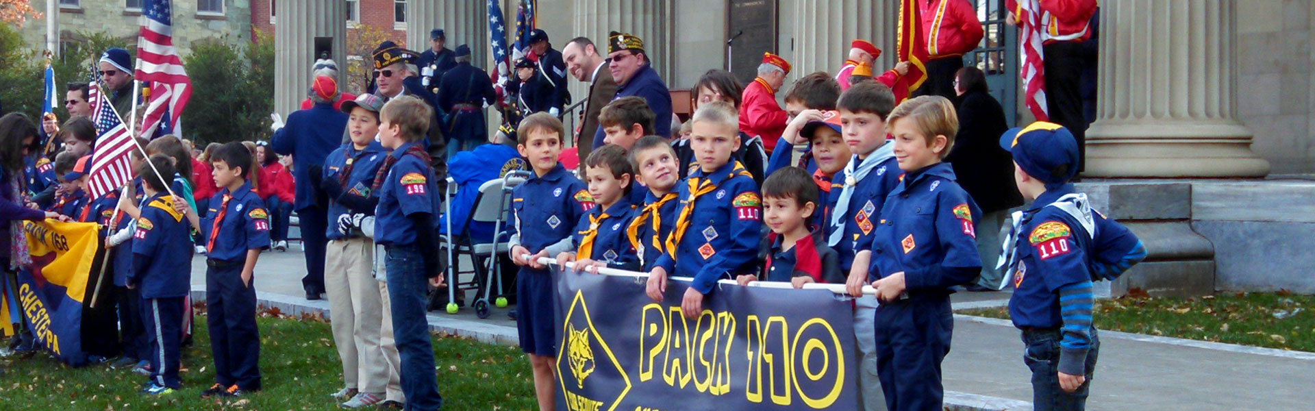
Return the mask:
[[[948,295],[881,303],[876,315],[877,378],[890,411],[940,411],[940,361],[949,354],[955,316]]]

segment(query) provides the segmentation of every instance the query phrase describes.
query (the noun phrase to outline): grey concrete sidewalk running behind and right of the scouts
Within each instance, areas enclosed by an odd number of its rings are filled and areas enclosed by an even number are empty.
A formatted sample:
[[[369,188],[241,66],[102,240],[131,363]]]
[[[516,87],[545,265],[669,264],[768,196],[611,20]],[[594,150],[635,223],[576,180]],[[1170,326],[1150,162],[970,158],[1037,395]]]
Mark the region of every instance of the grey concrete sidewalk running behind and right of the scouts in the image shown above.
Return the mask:
[[[308,302],[301,290],[302,253],[270,252],[256,263],[262,304],[287,314],[325,314],[329,303]],[[204,257],[192,258],[192,290],[205,291]],[[955,308],[999,306],[1003,292],[960,292]],[[467,302],[473,302],[468,298]],[[509,307],[510,308],[510,307]],[[509,308],[480,320],[469,307],[456,315],[430,312],[434,331],[514,345]],[[1099,325],[1099,319],[1097,319]],[[1091,410],[1310,410],[1315,407],[1315,353],[1155,337],[1102,331],[1091,387]],[[1005,320],[955,317],[955,339],[944,362],[945,406],[951,410],[1031,410],[1031,385],[1018,331]]]

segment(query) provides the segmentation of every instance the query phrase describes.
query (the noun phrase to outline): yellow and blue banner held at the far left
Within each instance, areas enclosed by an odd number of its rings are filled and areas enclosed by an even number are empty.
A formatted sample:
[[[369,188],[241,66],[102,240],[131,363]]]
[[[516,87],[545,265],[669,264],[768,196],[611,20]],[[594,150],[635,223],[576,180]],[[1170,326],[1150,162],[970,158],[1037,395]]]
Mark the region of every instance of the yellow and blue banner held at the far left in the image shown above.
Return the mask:
[[[100,248],[96,223],[24,224],[32,265],[18,271],[17,303],[43,346],[70,365],[87,362],[82,349],[83,299]]]

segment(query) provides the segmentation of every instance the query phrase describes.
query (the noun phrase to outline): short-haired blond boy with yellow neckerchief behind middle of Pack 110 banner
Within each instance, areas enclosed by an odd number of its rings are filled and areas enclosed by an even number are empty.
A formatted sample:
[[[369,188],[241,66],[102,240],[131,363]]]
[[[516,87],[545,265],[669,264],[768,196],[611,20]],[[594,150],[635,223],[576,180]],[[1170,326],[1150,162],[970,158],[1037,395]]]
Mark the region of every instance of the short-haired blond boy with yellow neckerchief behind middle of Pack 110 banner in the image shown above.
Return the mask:
[[[739,148],[739,113],[725,101],[702,104],[694,117],[693,148],[698,170],[679,184],[680,216],[667,250],[648,275],[647,294],[663,300],[667,275],[693,277],[681,312],[697,317],[704,298],[719,279],[756,273],[761,238],[761,203],[753,177],[731,155]]]

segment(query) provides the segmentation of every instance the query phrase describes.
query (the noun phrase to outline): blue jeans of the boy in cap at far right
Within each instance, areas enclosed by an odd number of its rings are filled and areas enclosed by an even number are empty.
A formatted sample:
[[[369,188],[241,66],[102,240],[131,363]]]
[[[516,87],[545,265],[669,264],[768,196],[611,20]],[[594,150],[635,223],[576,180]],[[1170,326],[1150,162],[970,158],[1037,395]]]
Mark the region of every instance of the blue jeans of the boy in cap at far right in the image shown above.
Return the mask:
[[[1101,350],[1101,340],[1091,327],[1091,349],[1086,352],[1086,382],[1073,393],[1060,389],[1060,340],[1064,336],[1059,328],[1043,331],[1023,331],[1023,364],[1032,370],[1032,410],[1059,411],[1086,408],[1088,391],[1091,387],[1091,374],[1095,371],[1095,357]]]

